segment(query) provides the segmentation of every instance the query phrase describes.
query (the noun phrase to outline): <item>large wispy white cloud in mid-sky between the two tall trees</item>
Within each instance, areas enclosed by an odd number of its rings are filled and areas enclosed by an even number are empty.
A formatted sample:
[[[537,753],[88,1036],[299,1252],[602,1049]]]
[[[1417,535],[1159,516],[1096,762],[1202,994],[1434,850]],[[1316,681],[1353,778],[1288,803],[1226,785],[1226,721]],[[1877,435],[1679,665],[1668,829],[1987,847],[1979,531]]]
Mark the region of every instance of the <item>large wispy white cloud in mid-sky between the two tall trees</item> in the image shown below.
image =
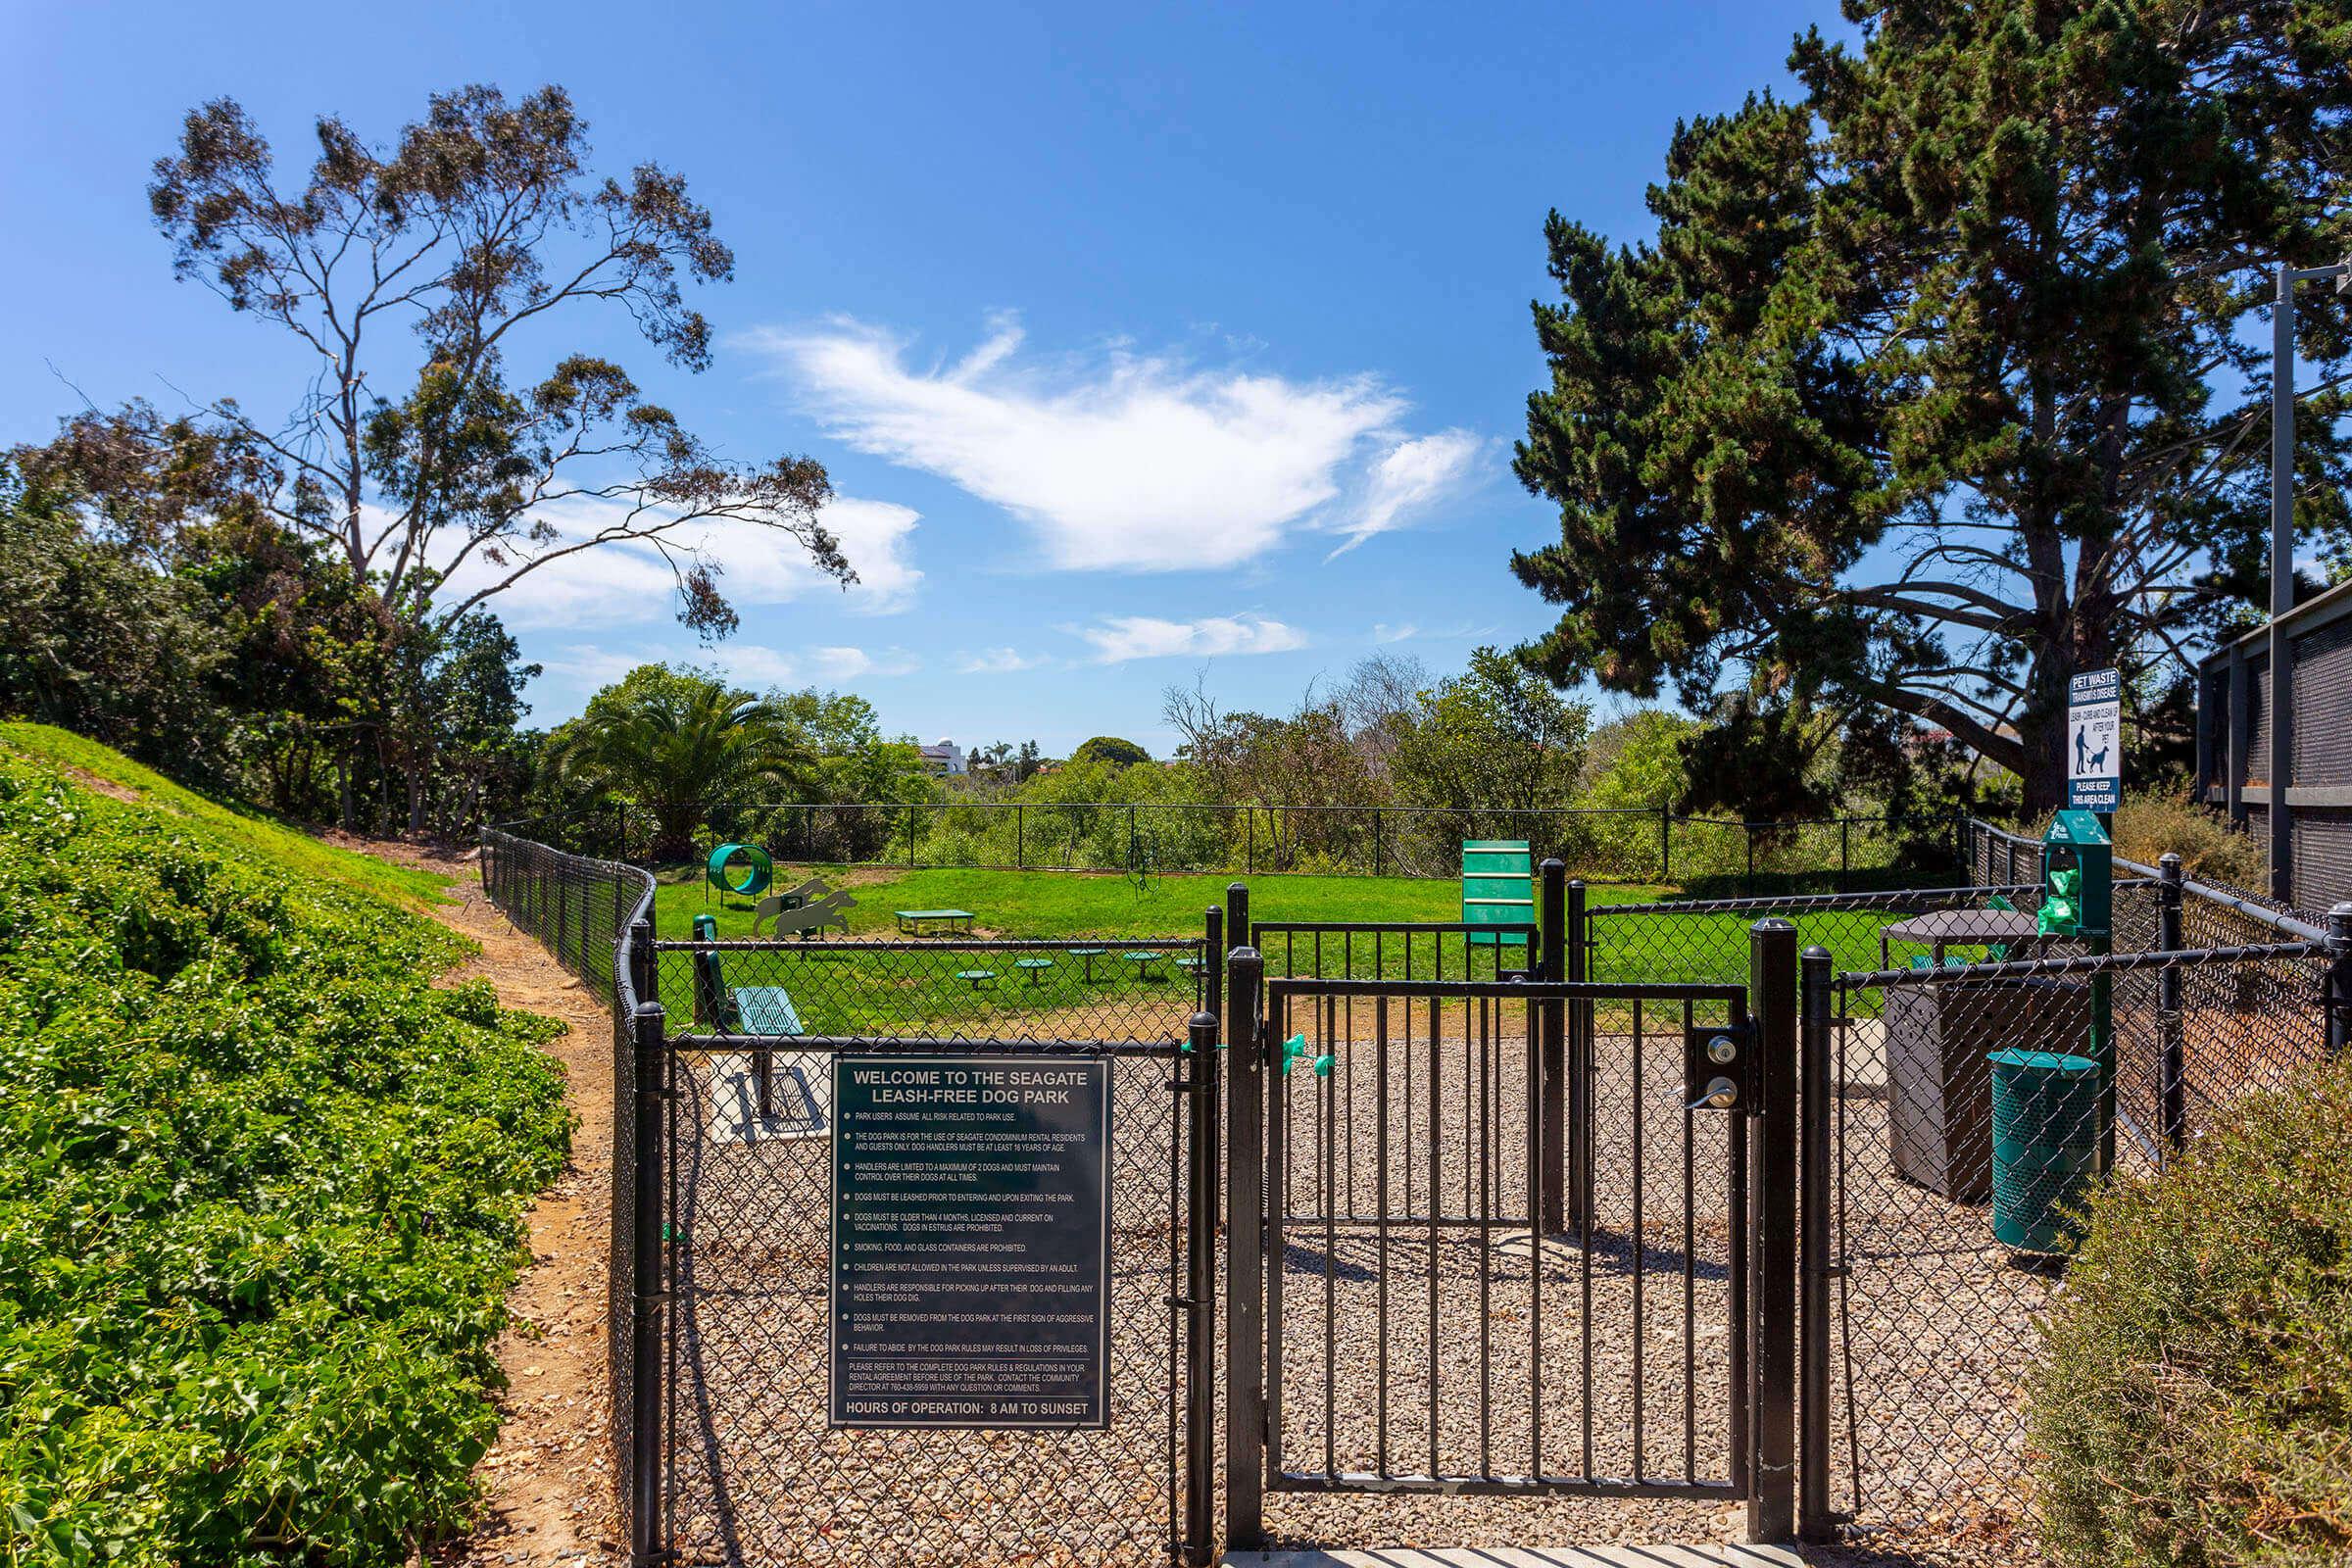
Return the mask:
[[[1028,364],[1011,315],[948,364],[913,364],[903,339],[854,320],[741,341],[840,440],[1004,508],[1061,569],[1235,567],[1296,529],[1362,543],[1432,505],[1479,449],[1463,430],[1406,435],[1376,376],[1291,381],[1124,343]]]

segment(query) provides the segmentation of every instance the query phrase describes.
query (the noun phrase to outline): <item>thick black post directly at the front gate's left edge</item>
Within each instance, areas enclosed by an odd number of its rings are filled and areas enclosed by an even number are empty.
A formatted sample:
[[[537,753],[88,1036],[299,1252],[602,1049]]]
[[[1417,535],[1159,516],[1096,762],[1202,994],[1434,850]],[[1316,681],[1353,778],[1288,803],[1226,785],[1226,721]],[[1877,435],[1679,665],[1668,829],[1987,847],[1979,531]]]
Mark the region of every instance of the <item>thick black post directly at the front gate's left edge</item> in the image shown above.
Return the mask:
[[[1235,933],[1247,929],[1237,924]],[[1265,1544],[1263,980],[1265,959],[1244,936],[1244,945],[1225,959],[1225,1058],[1232,1067],[1225,1084],[1225,1542],[1237,1552]]]

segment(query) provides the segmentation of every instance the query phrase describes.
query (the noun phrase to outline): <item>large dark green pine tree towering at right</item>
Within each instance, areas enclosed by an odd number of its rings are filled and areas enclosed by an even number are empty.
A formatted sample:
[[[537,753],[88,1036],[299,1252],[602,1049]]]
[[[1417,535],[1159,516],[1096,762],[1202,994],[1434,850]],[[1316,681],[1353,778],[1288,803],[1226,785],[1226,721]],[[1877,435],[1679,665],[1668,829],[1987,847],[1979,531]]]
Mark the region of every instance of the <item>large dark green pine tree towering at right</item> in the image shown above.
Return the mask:
[[[2260,585],[2277,261],[2352,244],[2352,21],[2321,0],[1849,0],[1802,101],[1679,125],[1653,242],[1550,216],[1515,555],[1555,679],[1947,729],[2063,785],[2067,677],[2185,661]],[[2298,527],[2345,541],[2345,301]],[[2133,684],[2133,682],[2126,682]]]

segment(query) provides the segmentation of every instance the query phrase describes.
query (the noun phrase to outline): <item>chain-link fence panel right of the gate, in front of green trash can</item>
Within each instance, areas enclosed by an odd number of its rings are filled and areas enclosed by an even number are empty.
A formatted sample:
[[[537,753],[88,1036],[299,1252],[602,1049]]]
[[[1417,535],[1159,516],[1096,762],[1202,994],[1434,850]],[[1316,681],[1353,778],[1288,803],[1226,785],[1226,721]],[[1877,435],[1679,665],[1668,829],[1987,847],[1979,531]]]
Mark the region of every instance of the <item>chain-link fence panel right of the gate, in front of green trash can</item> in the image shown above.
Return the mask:
[[[2103,1180],[2161,1168],[2230,1100],[2317,1060],[2321,954],[1839,976],[1839,1490],[1863,1528],[2032,1549],[2018,1375],[2056,1255]]]

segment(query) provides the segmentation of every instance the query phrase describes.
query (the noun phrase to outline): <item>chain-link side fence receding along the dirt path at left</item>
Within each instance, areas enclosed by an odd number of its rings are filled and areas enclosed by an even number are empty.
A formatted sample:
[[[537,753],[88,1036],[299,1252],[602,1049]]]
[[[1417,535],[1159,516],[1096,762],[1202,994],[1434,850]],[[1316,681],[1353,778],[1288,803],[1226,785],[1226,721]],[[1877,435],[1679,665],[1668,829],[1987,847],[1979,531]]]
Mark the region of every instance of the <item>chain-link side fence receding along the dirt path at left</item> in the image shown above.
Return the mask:
[[[590,860],[482,830],[482,891],[515,929],[539,943],[612,1006],[612,1248],[604,1272],[607,1434],[614,1486],[623,1509],[633,1497],[630,1467],[630,1340],[635,1333],[633,1248],[637,1171],[633,1164],[635,1084],[635,969],[637,922],[654,910],[654,877],[635,865]]]

